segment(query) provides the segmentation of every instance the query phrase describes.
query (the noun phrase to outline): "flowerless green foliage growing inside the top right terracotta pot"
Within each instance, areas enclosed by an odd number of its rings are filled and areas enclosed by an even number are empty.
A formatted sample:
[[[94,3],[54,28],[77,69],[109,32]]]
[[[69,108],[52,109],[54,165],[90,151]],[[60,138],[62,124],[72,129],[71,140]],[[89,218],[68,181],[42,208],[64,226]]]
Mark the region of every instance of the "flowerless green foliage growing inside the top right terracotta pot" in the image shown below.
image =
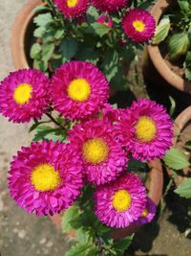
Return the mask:
[[[159,21],[153,43],[160,45],[167,58],[180,67],[180,75],[191,81],[191,3],[171,2]]]

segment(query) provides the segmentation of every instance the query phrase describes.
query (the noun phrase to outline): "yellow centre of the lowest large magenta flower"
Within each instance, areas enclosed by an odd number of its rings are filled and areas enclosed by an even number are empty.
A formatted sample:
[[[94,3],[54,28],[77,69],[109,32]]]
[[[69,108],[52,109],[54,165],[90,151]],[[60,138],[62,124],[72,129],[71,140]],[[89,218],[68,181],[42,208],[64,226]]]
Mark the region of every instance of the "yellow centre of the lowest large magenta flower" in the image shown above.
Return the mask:
[[[114,194],[113,200],[112,200],[112,204],[118,212],[126,211],[131,206],[131,202],[132,202],[131,195],[129,194],[129,192],[127,192],[124,189],[118,190]]]

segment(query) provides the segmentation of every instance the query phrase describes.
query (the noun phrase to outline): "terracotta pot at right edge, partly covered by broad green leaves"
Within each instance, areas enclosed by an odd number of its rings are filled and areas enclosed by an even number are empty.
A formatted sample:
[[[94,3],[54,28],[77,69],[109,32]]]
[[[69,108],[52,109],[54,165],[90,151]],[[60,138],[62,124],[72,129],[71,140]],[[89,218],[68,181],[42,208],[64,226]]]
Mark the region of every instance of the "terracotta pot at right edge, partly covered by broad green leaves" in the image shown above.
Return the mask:
[[[180,115],[176,118],[175,122],[174,122],[174,134],[179,134],[178,136],[175,136],[173,138],[173,146],[175,148],[178,147],[178,142],[180,139],[180,134],[183,133],[183,130],[190,125],[191,122],[191,105],[188,106],[187,108],[185,108]],[[188,172],[190,172],[189,168],[185,168],[182,170],[183,175],[178,175],[178,177],[175,179],[175,184],[179,185],[183,179],[184,176],[188,175]],[[172,173],[170,171],[170,169],[167,168],[167,173],[168,175],[172,176]]]

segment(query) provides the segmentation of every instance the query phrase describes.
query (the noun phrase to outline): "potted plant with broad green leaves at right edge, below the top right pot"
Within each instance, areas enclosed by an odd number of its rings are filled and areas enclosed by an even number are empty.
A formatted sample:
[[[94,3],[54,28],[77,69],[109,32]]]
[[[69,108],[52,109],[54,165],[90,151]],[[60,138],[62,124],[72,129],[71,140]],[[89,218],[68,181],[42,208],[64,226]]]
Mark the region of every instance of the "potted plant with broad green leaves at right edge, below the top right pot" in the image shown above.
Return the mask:
[[[183,198],[191,198],[190,178],[190,120],[191,107],[185,108],[174,122],[173,145],[163,158],[168,175],[176,184],[175,192]]]

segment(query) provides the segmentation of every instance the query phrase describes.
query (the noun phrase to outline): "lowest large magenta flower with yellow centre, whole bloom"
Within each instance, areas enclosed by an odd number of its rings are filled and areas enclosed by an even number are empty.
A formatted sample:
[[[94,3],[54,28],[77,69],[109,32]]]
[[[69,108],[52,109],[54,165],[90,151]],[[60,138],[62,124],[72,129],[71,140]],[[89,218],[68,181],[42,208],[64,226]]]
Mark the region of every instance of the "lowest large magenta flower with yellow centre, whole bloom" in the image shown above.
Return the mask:
[[[146,204],[146,192],[137,175],[124,174],[110,184],[97,187],[95,202],[99,221],[124,228],[138,221]]]

